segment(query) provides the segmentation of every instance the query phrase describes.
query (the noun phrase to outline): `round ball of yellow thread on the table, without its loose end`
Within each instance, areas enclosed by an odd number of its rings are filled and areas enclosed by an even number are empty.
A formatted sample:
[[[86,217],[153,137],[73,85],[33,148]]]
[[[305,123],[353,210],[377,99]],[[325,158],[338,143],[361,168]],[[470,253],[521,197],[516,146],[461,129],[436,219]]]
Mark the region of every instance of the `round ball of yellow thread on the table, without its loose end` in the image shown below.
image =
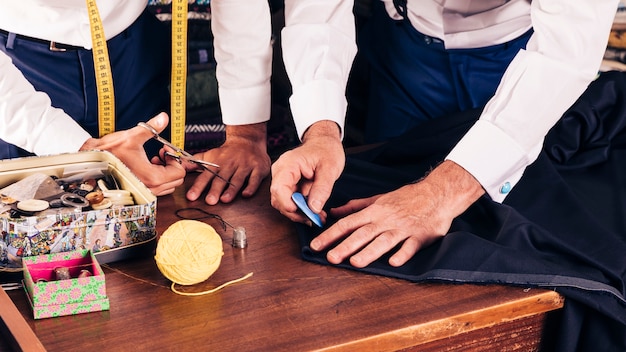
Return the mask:
[[[179,220],[159,238],[154,259],[172,282],[194,285],[213,275],[223,255],[222,238],[211,225]]]

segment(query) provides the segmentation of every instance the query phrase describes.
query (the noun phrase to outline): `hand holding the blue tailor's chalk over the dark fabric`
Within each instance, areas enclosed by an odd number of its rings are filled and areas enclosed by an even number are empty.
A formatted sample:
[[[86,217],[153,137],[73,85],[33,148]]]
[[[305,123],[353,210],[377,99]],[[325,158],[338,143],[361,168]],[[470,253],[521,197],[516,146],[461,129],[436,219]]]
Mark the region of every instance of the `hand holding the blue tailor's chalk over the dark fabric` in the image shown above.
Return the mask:
[[[345,152],[336,123],[313,124],[302,145],[283,153],[272,165],[270,187],[272,206],[293,221],[310,223],[298,212],[291,195],[298,191],[308,197],[309,208],[325,218],[322,208],[345,166]]]

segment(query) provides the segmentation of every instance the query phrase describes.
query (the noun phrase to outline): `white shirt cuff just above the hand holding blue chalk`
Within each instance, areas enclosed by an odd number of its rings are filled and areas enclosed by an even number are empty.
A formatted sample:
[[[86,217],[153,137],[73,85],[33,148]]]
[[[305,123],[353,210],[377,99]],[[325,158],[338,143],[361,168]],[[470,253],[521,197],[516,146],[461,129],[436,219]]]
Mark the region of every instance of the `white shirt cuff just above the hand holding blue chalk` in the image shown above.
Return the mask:
[[[343,140],[344,123],[348,103],[345,90],[330,80],[317,80],[300,87],[289,98],[291,113],[298,137],[312,124],[330,120],[337,123]]]

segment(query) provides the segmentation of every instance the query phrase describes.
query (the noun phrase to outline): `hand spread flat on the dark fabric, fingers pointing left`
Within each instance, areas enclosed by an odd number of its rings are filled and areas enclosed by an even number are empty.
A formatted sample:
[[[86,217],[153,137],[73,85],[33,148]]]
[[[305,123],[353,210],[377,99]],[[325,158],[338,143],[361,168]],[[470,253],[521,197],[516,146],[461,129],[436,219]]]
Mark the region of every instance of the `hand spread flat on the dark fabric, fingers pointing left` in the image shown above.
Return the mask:
[[[445,161],[420,182],[331,209],[331,215],[345,217],[314,238],[311,248],[321,251],[341,241],[328,251],[328,261],[339,264],[349,258],[362,268],[402,243],[389,258],[390,265],[401,266],[443,237],[452,220],[483,194],[471,174]]]

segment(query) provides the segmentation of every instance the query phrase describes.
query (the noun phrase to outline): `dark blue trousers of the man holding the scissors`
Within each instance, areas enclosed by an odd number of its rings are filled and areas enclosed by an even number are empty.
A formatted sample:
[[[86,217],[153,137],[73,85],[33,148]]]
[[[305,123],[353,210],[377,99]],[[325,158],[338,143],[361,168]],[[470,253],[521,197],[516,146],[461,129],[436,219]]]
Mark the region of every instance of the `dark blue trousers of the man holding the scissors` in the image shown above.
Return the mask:
[[[107,41],[115,90],[116,130],[169,111],[170,41],[167,27],[144,12],[127,30]],[[91,50],[62,46],[11,33],[0,33],[0,50],[13,60],[52,106],[63,109],[89,134],[98,136],[98,100]],[[166,132],[164,135],[167,135]],[[58,136],[63,143],[64,136]],[[150,141],[150,155],[159,150]],[[31,155],[0,140],[0,159]]]

